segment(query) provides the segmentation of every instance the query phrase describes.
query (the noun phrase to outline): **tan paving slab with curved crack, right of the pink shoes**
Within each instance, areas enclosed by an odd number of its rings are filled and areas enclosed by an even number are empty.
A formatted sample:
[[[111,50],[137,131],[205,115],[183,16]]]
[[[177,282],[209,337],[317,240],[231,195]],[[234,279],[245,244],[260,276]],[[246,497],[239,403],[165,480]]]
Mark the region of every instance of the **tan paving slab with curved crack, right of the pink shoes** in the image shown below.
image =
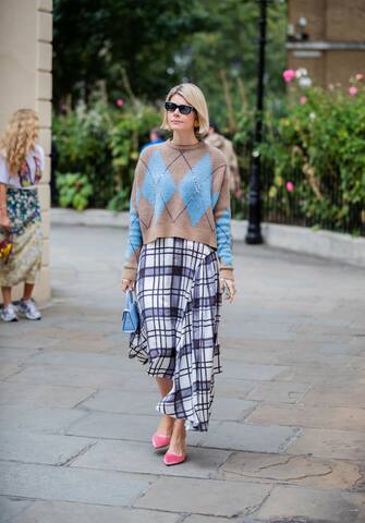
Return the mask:
[[[218,477],[229,481],[304,485],[316,488],[356,488],[363,482],[358,464],[309,455],[235,452],[219,469]]]

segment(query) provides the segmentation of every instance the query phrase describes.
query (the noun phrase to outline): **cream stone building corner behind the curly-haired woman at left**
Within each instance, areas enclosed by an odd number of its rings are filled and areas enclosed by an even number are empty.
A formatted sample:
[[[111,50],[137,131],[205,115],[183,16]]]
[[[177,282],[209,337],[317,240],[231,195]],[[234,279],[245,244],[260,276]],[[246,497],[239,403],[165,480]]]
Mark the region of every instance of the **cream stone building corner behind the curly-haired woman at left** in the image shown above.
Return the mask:
[[[31,108],[40,118],[40,144],[46,170],[39,186],[44,222],[44,257],[35,299],[50,299],[49,206],[52,105],[52,0],[1,0],[0,2],[0,133],[17,109]],[[20,289],[14,297],[19,297]]]

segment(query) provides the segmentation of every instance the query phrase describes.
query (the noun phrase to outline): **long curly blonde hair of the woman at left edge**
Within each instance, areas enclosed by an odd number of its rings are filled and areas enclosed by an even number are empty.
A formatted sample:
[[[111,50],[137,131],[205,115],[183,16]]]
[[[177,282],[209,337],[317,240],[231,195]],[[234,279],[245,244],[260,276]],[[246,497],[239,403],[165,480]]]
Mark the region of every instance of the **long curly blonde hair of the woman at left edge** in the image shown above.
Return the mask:
[[[11,117],[0,141],[1,155],[5,157],[9,171],[15,174],[28,153],[35,148],[39,135],[39,118],[33,109],[19,109]]]

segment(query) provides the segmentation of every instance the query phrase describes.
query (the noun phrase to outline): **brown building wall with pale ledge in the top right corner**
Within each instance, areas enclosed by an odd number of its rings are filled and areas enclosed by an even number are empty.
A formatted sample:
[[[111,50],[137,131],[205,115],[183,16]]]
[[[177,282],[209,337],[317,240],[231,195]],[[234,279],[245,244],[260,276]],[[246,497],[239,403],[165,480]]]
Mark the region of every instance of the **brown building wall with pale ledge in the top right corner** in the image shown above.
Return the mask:
[[[289,0],[289,69],[328,86],[365,73],[365,0]]]

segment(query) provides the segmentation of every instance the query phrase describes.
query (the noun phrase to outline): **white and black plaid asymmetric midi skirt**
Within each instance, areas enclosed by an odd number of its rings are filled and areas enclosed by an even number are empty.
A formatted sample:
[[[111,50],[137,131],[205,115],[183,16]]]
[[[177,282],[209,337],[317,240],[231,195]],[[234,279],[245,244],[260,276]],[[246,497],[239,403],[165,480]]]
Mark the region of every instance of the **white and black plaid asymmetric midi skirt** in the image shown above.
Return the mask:
[[[173,381],[156,409],[185,418],[187,429],[207,430],[215,374],[221,373],[215,248],[181,238],[144,244],[136,297],[141,323],[131,335],[129,356],[146,364],[147,374]]]

